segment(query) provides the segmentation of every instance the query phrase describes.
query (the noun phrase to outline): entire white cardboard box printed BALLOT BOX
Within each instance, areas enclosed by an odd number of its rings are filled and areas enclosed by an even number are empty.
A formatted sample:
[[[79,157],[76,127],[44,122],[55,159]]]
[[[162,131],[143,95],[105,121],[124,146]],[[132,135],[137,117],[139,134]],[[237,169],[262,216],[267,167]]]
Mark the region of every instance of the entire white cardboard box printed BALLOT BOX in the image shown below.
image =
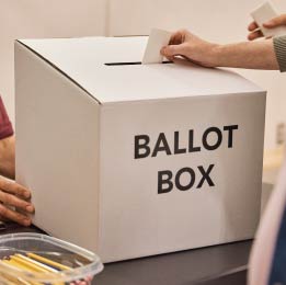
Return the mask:
[[[18,41],[16,176],[34,223],[111,262],[253,237],[265,92],[139,65],[146,37]]]

